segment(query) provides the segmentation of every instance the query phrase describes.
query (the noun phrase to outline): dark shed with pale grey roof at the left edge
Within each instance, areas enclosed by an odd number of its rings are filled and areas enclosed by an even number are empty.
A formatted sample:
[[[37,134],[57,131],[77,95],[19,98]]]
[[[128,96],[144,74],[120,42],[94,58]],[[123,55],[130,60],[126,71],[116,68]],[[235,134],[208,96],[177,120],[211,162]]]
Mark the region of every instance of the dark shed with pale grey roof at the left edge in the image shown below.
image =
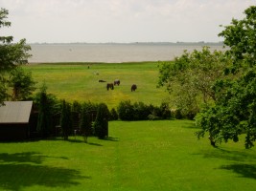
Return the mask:
[[[0,141],[30,138],[33,101],[5,101],[0,106]]]

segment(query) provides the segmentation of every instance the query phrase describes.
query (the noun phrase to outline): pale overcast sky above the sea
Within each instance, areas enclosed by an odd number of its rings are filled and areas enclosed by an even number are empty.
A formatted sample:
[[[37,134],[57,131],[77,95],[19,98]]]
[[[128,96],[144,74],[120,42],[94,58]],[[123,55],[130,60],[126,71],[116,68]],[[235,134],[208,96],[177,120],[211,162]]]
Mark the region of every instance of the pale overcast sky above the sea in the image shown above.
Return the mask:
[[[12,27],[35,42],[219,42],[256,0],[0,0]]]

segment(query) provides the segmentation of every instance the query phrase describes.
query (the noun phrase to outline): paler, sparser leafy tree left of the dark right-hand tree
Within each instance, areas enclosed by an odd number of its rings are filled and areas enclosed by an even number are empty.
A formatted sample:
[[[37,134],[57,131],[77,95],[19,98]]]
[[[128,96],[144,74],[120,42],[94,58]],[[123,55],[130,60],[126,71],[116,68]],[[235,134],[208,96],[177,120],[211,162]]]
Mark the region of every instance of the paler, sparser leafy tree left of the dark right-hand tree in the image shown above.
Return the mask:
[[[202,104],[211,104],[215,92],[211,89],[216,79],[224,77],[230,64],[227,54],[203,47],[202,51],[184,52],[174,62],[159,64],[158,86],[165,86],[173,107],[183,116],[195,117]]]

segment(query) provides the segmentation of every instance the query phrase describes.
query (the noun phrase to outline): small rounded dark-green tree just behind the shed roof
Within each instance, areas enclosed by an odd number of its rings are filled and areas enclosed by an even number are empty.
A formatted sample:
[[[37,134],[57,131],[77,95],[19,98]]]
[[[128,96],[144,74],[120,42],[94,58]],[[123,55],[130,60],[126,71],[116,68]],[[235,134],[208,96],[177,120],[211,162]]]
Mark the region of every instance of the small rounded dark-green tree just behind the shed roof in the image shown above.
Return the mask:
[[[21,67],[11,71],[9,86],[12,87],[12,100],[25,100],[35,91],[32,74],[26,73]]]

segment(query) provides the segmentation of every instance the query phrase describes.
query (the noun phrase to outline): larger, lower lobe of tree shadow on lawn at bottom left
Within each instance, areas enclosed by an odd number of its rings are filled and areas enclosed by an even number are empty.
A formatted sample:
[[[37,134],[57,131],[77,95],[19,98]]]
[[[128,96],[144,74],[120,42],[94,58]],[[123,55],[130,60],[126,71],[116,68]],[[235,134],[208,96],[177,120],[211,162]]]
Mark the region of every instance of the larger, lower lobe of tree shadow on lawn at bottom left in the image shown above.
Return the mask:
[[[77,170],[31,164],[0,164],[0,188],[19,191],[42,185],[67,188],[80,184],[83,177]]]

